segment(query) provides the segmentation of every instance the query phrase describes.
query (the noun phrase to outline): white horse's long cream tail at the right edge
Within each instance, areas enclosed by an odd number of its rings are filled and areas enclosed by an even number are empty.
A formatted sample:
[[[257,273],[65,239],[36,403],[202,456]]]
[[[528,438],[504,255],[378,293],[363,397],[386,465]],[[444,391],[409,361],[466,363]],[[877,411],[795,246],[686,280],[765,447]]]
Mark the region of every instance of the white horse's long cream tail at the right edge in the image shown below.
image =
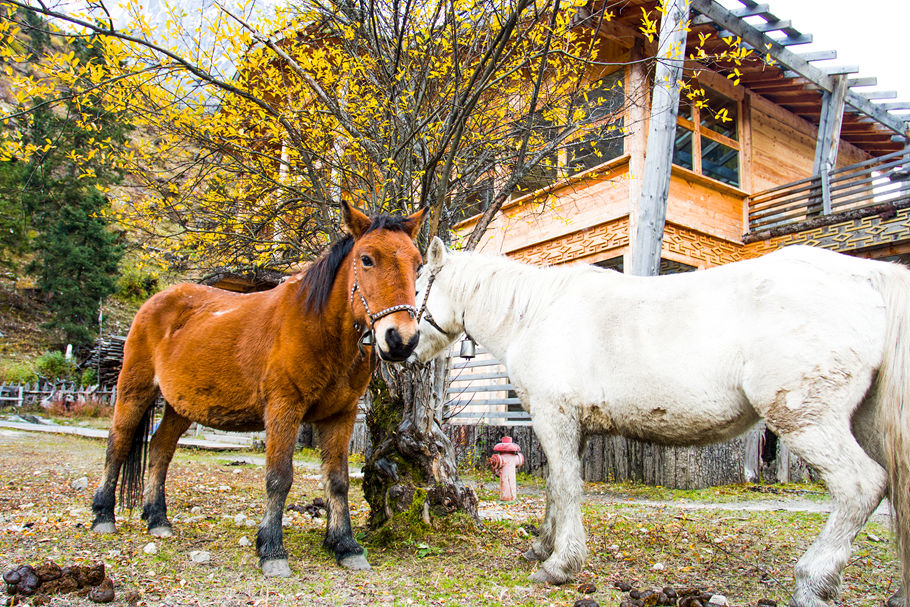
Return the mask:
[[[888,323],[877,394],[897,550],[904,596],[907,596],[910,592],[910,271],[894,265],[881,272],[874,283],[885,300]]]

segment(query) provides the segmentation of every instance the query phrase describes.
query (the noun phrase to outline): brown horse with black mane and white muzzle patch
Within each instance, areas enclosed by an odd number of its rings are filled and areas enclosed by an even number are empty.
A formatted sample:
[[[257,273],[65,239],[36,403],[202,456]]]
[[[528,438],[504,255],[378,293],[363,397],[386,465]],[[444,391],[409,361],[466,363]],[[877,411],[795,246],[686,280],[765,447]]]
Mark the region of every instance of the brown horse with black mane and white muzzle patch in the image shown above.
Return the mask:
[[[351,533],[348,444],[357,401],[370,379],[372,348],[398,362],[417,344],[414,283],[421,258],[413,239],[425,214],[423,209],[403,218],[369,218],[343,204],[348,235],[278,287],[241,295],[180,284],[143,304],[124,348],[92,529],[116,530],[118,474],[121,506],[138,505],[147,451],[142,518],[152,535],[172,535],[164,481],[177,439],[190,423],[264,428],[267,501],[256,550],[265,575],[289,576],[281,519],[297,428],[305,421],[317,428],[322,452],[324,545],[340,565],[369,569]],[[364,343],[367,334],[375,346]],[[159,391],[164,416],[149,442]]]

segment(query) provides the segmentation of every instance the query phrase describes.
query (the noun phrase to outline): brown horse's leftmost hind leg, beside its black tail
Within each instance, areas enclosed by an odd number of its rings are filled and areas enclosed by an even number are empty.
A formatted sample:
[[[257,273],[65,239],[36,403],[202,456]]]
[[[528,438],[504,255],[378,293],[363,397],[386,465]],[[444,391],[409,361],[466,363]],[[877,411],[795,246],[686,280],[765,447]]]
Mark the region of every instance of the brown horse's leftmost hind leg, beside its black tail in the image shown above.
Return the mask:
[[[137,437],[136,433],[140,429],[144,430],[149,422],[150,409],[158,395],[158,388],[152,383],[151,377],[148,382],[140,383],[131,381],[130,376],[124,373],[129,373],[126,366],[121,372],[121,381],[117,383],[117,402],[114,404],[114,418],[107,437],[104,474],[92,501],[92,512],[95,514],[92,530],[98,533],[116,531],[114,502],[117,477],[128,457],[141,458],[141,453],[137,453],[137,450],[143,447],[145,436]],[[141,466],[132,472],[130,481],[138,487],[142,483]]]

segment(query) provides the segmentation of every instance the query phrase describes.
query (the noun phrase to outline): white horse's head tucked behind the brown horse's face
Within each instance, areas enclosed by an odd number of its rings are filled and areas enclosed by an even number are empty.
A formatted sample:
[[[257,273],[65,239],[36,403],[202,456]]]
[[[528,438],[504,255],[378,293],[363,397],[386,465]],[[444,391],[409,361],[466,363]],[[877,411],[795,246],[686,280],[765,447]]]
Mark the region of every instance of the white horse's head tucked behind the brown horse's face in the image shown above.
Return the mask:
[[[424,301],[420,319],[420,341],[408,358],[411,362],[425,363],[448,349],[464,332],[464,312],[459,309],[449,289],[446,276],[452,254],[439,238],[434,238],[427,249],[426,263],[417,276],[417,297]],[[430,290],[427,295],[427,289]]]

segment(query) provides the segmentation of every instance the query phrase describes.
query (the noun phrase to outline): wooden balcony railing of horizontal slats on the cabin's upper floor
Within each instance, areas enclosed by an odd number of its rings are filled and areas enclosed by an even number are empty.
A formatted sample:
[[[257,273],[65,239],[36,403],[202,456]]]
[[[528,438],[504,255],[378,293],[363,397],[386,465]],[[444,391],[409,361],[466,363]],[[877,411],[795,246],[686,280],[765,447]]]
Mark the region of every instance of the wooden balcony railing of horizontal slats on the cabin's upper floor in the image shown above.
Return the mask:
[[[851,219],[910,206],[910,152],[892,152],[765,190],[747,203],[748,234],[798,231],[819,218]]]

